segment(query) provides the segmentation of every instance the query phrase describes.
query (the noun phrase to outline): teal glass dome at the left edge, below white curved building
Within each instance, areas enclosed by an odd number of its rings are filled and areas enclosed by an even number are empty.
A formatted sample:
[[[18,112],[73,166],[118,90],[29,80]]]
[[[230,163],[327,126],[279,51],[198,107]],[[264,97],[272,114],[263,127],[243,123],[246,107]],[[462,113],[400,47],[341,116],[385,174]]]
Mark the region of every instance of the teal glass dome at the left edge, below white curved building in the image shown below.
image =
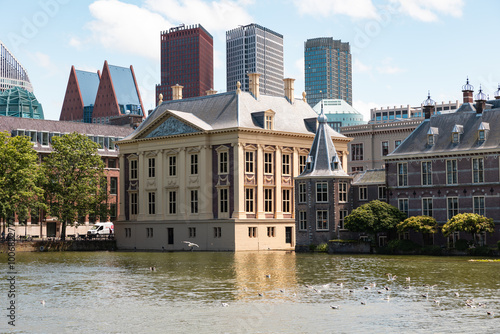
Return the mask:
[[[0,116],[44,119],[35,95],[20,87],[0,92]]]

